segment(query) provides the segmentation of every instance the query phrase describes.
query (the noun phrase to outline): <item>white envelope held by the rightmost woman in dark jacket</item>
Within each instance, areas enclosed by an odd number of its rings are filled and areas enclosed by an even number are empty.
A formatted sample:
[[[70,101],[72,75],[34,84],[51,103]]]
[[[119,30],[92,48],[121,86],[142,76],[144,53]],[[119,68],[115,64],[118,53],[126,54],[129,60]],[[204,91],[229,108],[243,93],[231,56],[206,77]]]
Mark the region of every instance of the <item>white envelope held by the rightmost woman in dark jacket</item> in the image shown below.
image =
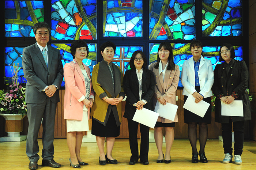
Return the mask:
[[[229,105],[221,101],[221,116],[244,116],[243,102],[234,100]]]

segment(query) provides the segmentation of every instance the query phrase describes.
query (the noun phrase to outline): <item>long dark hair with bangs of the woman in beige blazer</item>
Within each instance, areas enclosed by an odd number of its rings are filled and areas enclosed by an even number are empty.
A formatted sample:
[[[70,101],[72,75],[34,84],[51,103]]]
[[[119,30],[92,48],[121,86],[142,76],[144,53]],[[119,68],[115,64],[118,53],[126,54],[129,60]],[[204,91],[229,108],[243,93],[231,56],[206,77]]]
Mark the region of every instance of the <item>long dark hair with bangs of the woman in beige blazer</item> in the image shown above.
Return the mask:
[[[169,57],[168,57],[169,64],[167,66],[167,70],[174,70],[175,69],[175,64],[173,62],[173,48],[172,48],[172,45],[169,42],[162,42],[159,45],[158,52],[157,52],[157,64],[155,65],[155,68],[158,69],[158,67],[159,67],[159,63],[161,61],[161,59],[159,57],[159,50],[161,50],[162,48],[165,49],[165,50],[168,50],[170,52]]]

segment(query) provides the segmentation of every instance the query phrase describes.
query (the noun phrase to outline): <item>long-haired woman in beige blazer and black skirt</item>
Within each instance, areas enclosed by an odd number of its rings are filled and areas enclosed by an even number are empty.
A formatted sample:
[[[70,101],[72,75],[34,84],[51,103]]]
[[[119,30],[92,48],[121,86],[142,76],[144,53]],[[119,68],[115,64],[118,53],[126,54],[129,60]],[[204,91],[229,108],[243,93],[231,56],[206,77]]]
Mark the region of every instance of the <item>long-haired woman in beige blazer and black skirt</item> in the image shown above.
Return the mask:
[[[178,81],[180,77],[180,69],[178,65],[173,62],[172,45],[168,42],[162,42],[158,48],[157,62],[152,63],[149,67],[153,71],[155,76],[155,94],[153,97],[153,103],[159,102],[162,105],[172,103],[176,105],[176,90],[178,87]],[[176,114],[174,121],[166,118],[158,117],[157,123],[154,128],[154,138],[158,149],[157,163],[170,163],[171,156],[170,151],[174,140],[174,126],[178,121]],[[163,160],[164,154],[162,151],[163,145],[163,133],[162,128],[165,127],[165,160]]]

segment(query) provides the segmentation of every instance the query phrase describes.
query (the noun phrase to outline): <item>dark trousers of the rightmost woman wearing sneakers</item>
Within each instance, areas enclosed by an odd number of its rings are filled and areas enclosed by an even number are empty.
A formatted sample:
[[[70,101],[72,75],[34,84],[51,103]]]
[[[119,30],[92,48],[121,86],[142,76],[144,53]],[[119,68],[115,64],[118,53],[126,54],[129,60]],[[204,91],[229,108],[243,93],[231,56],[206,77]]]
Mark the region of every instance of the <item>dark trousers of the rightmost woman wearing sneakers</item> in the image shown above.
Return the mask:
[[[232,121],[222,123],[222,139],[224,153],[232,155]],[[234,131],[234,155],[242,155],[244,147],[244,121],[233,122]]]

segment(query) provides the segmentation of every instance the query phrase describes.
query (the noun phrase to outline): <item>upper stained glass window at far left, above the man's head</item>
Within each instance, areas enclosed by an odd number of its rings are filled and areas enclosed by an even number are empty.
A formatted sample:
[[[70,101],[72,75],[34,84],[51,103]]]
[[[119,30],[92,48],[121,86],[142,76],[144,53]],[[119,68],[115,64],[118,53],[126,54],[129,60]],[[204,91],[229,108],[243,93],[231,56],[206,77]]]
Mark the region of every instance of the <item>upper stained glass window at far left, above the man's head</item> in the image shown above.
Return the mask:
[[[5,37],[35,37],[33,26],[41,21],[43,1],[5,1]]]

